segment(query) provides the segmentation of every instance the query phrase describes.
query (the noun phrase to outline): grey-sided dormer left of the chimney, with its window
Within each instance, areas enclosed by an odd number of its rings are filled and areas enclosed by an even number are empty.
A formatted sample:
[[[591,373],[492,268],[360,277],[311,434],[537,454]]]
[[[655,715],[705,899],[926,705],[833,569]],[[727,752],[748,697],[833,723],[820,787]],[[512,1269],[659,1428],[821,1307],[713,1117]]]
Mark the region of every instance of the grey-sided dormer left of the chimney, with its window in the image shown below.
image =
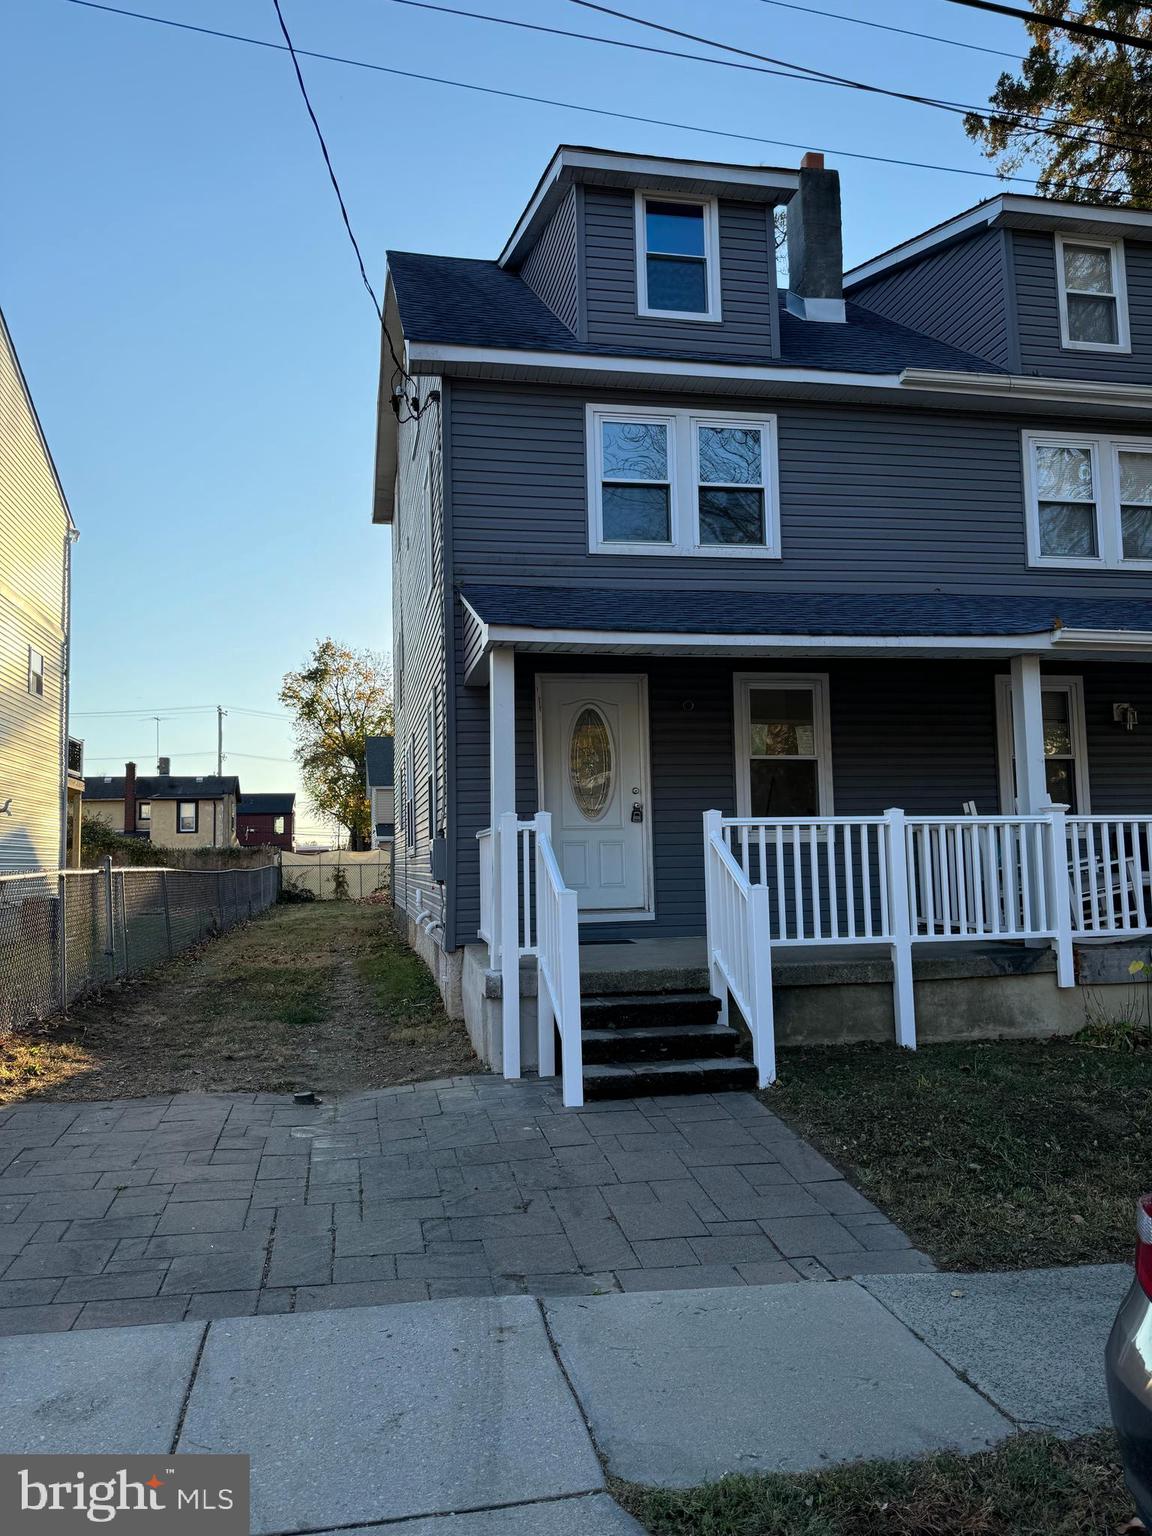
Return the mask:
[[[779,356],[773,214],[799,187],[797,170],[562,146],[499,264],[590,346]]]

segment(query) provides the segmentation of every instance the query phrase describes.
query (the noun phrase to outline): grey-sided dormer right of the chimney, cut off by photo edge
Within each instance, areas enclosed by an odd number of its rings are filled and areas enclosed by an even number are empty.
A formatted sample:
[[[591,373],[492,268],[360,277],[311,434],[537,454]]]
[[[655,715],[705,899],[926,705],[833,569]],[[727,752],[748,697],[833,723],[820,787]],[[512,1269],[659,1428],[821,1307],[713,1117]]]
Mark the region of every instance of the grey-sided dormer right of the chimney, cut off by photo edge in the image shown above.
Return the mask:
[[[848,296],[1044,378],[1152,382],[1152,214],[1006,194],[865,261]]]

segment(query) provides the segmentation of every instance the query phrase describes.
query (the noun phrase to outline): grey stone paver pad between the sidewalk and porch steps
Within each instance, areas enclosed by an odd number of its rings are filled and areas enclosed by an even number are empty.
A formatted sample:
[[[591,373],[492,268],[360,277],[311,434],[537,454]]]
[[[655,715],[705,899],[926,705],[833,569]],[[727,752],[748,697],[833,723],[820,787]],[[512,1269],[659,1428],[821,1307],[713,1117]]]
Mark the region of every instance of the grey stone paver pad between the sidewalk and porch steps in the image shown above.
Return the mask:
[[[0,1333],[931,1267],[750,1094],[0,1109]]]

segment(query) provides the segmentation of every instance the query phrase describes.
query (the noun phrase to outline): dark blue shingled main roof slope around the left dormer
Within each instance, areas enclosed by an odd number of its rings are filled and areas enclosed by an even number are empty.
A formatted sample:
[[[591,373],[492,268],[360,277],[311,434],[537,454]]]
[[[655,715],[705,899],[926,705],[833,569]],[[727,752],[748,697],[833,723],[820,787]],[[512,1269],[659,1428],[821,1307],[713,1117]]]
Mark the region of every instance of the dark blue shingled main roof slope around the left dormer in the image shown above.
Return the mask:
[[[462,347],[507,347],[525,352],[579,352],[614,358],[674,358],[682,350],[610,347],[579,341],[527,283],[496,261],[389,252],[396,303],[409,341],[442,341]],[[845,306],[846,324],[799,319],[780,306],[780,356],[742,358],[759,367],[826,369],[846,373],[899,373],[902,369],[945,369],[960,373],[1003,373],[1005,369],[958,347],[897,326],[860,304]],[[705,356],[728,362],[731,356]]]

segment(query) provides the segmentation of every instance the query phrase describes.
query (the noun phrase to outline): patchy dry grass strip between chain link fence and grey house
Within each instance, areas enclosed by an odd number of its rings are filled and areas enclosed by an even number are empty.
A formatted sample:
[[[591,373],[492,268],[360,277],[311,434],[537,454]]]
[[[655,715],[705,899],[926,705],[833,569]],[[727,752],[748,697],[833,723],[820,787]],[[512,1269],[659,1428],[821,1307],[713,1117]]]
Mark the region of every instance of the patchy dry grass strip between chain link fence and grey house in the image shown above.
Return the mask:
[[[389,909],[313,902],[0,1038],[0,1103],[151,1094],[338,1092],[476,1072]]]

